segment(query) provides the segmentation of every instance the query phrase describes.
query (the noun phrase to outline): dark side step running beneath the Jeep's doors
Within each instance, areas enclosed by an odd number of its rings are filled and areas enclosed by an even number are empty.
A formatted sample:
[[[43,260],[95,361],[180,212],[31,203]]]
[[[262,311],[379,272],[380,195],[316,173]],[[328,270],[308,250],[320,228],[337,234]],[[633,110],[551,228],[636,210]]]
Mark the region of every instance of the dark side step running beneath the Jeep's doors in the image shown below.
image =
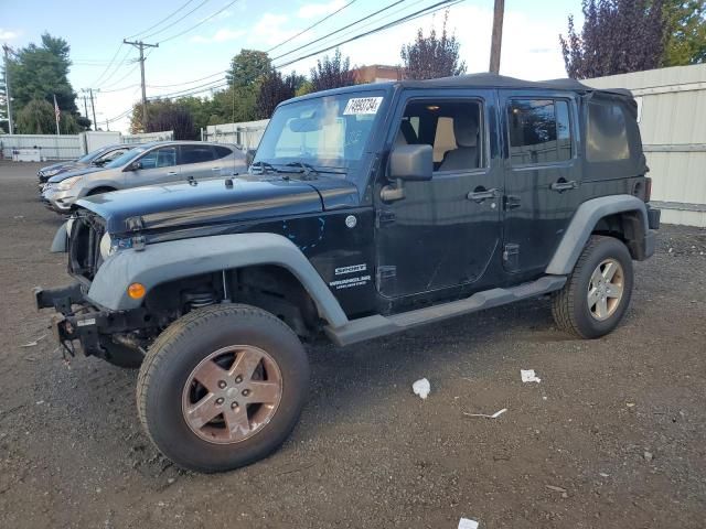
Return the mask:
[[[565,283],[566,277],[564,276],[544,276],[531,283],[520,284],[510,289],[485,290],[477,292],[464,300],[403,312],[387,317],[379,314],[361,317],[352,320],[340,327],[327,326],[324,331],[336,345],[350,345],[387,334],[399,333],[419,325],[440,322],[461,314],[505,305],[527,298],[536,298],[537,295],[559,290]]]

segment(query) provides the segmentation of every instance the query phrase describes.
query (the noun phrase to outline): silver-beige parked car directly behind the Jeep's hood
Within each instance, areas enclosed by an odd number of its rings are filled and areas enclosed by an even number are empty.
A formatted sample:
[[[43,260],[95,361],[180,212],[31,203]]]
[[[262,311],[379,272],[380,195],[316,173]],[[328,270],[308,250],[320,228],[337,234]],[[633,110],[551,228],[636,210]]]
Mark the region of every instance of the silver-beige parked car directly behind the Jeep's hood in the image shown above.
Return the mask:
[[[103,168],[53,176],[42,195],[52,209],[67,213],[84,196],[188,179],[228,176],[246,169],[245,155],[235,145],[156,141],[136,147]]]

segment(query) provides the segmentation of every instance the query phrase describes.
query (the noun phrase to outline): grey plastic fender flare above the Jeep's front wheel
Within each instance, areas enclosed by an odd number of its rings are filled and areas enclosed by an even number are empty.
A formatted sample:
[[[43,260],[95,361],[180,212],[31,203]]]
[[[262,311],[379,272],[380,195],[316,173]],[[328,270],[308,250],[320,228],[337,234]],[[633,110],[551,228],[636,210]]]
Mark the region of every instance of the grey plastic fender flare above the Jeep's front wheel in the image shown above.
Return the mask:
[[[311,262],[292,241],[276,234],[216,235],[118,251],[98,269],[86,298],[111,311],[128,311],[142,303],[128,295],[130,283],[142,283],[149,292],[160,283],[181,278],[255,264],[289,270],[329,325],[347,323],[343,309]]]

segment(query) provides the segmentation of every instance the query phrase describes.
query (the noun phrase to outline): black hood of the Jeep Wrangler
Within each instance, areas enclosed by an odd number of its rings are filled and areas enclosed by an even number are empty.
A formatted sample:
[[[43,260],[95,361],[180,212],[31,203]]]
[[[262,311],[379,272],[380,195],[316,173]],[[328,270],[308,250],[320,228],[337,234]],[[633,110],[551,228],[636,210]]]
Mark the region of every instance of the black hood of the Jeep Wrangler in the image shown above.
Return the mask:
[[[270,175],[267,175],[270,176]],[[175,229],[255,220],[323,210],[319,192],[308,182],[242,175],[189,183],[150,185],[78,201],[106,219],[108,231]],[[351,184],[345,184],[351,185]]]

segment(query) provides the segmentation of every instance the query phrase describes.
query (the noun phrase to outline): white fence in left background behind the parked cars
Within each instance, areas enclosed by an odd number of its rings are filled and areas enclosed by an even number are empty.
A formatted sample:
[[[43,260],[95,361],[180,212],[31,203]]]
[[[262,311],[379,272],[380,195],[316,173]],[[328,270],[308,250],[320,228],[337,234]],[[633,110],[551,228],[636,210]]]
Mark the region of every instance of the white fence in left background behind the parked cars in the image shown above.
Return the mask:
[[[146,143],[174,138],[173,131],[121,134],[120,132],[82,132],[81,134],[0,134],[0,159],[11,159],[12,151],[36,149],[42,160],[74,160],[110,143]]]

